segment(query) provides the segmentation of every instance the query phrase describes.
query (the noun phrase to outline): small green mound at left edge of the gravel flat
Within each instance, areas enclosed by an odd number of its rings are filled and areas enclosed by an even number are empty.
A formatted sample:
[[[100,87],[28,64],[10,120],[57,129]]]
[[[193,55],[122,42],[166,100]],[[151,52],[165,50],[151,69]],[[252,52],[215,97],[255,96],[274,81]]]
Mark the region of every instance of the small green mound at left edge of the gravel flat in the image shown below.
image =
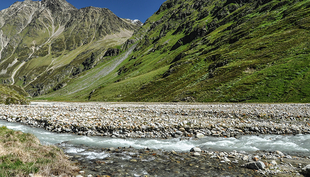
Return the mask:
[[[29,104],[24,89],[15,85],[0,85],[0,104]]]

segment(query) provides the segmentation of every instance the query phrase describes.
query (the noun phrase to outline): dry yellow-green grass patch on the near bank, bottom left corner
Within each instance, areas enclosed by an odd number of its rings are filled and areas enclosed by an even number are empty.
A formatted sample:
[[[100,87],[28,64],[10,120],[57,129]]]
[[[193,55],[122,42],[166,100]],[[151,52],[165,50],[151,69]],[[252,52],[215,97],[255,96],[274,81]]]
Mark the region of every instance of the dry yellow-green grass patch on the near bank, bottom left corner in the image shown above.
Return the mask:
[[[43,146],[32,134],[0,127],[0,177],[73,175],[77,171],[55,146]]]

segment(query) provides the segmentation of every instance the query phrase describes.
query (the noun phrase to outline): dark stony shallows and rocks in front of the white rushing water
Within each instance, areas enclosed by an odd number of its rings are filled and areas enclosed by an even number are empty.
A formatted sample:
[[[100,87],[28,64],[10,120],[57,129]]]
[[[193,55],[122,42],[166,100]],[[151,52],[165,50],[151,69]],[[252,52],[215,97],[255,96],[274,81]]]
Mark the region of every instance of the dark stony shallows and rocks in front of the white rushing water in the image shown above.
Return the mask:
[[[280,151],[175,152],[132,147],[93,148],[58,144],[81,167],[85,176],[307,176],[310,159]],[[69,149],[69,150],[67,150]]]

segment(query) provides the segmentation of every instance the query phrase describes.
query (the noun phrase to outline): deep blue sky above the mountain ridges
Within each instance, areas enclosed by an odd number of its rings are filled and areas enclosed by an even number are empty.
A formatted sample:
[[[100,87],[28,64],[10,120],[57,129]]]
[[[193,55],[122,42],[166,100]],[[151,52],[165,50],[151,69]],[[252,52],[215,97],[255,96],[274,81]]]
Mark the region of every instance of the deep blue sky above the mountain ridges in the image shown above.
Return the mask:
[[[0,10],[10,7],[17,0],[1,0]],[[19,0],[23,1],[23,0]],[[121,18],[139,19],[143,23],[152,16],[166,0],[67,0],[80,9],[94,6],[108,8]]]

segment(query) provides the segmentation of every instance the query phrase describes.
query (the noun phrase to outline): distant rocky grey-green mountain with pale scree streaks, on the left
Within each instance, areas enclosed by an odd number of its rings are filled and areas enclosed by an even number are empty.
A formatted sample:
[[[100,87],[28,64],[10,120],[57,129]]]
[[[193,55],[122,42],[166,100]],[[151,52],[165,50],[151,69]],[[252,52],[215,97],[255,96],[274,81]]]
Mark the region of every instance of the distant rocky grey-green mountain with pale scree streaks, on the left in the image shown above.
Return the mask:
[[[66,0],[16,2],[0,11],[0,81],[31,96],[60,89],[92,69],[141,25],[109,9],[76,9]]]

